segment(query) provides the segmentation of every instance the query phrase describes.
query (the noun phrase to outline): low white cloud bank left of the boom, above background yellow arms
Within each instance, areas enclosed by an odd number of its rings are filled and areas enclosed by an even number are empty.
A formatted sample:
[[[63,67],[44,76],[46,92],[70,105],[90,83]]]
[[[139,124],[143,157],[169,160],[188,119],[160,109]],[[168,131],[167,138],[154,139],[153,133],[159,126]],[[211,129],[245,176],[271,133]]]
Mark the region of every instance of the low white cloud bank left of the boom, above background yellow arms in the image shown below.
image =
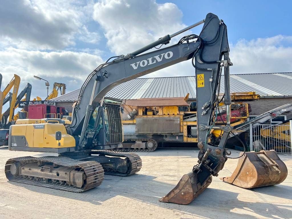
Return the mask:
[[[81,86],[93,69],[104,61],[98,55],[83,52],[40,52],[16,48],[0,51],[0,73],[3,75],[2,88],[9,83],[13,74],[21,78],[20,91],[28,83],[32,84],[32,98],[36,95],[45,97],[44,81],[33,78],[37,75],[51,84],[62,82],[67,84],[66,92]]]

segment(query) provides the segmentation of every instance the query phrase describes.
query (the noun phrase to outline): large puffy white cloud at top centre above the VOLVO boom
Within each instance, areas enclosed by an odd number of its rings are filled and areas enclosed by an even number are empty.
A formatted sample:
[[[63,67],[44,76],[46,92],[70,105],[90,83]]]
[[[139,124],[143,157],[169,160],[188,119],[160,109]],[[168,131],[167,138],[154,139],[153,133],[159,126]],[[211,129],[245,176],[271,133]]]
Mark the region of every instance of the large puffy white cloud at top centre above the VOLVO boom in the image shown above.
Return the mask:
[[[93,19],[105,30],[107,46],[117,54],[130,53],[186,25],[173,3],[102,0],[94,5]]]

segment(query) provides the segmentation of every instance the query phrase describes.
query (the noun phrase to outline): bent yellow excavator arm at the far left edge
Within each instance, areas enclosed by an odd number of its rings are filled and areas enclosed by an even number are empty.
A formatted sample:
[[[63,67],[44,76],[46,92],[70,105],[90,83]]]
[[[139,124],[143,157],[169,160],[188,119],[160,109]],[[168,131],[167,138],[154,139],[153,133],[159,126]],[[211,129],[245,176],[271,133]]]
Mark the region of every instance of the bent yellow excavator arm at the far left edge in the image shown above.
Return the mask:
[[[9,122],[12,121],[19,85],[20,85],[20,77],[14,74],[14,77],[11,79],[11,81],[3,90],[3,92],[0,91],[0,119],[1,121],[2,121],[3,100],[6,97],[6,95],[8,95],[9,91],[13,88],[11,106],[10,106],[10,112],[9,112]]]

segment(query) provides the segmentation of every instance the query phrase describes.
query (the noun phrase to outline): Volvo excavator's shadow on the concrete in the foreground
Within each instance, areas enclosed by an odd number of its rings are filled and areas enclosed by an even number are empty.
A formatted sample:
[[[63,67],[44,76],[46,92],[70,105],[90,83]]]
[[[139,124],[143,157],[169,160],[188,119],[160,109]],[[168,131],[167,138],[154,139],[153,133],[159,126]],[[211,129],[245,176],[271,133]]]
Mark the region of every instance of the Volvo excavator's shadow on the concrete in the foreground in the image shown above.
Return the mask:
[[[177,183],[173,184],[160,182],[150,175],[134,174],[128,177],[118,177],[105,175],[102,185],[83,193],[65,192],[60,190],[48,189],[32,185],[9,182],[10,184],[25,187],[28,190],[41,194],[50,194],[57,197],[65,197],[79,201],[89,202],[94,205],[102,205],[104,201],[116,196],[124,198],[116,199],[114,204],[121,208],[132,208],[127,198],[134,199],[147,205],[155,205],[162,208],[173,209],[184,213],[183,218],[288,218],[291,216],[291,206],[285,204],[269,204],[259,202],[245,202],[237,199],[236,192],[230,192],[215,188],[207,188],[199,197],[189,205],[178,205],[172,203],[162,203],[158,200],[166,195]],[[141,184],[143,182],[143,184]],[[274,189],[274,187],[273,187]],[[279,189],[287,189],[279,187]],[[291,189],[290,189],[291,190]],[[274,190],[273,190],[274,191]],[[286,190],[287,191],[287,190]],[[256,192],[268,192],[259,190]],[[273,192],[275,194],[277,192]],[[291,194],[291,193],[290,193]],[[287,193],[288,196],[288,193]],[[251,200],[253,201],[253,200]],[[60,203],[61,204],[61,203]],[[129,206],[127,206],[129,205]],[[140,205],[138,205],[140,207]],[[105,203],[106,207],[106,203]],[[138,209],[139,209],[138,207]]]

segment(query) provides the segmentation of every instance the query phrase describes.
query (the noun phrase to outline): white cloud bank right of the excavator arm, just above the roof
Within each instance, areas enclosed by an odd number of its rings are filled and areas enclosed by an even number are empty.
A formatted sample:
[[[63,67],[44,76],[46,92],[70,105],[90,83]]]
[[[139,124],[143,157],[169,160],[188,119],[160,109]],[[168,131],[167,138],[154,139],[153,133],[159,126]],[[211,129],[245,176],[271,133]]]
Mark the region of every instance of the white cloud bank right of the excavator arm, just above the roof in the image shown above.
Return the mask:
[[[230,46],[231,74],[292,71],[292,36],[277,35],[251,41],[239,40]]]

